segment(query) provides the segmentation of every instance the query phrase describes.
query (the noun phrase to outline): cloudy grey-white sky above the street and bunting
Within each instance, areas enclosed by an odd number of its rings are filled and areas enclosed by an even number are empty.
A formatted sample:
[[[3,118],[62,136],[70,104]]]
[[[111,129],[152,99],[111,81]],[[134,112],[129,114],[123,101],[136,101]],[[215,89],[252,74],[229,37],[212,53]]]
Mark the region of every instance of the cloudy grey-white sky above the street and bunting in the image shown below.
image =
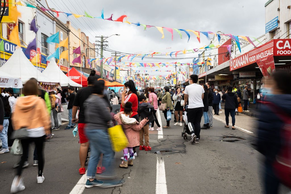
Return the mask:
[[[194,31],[221,31],[227,34],[259,37],[265,32],[265,3],[267,0],[150,0],[150,1],[100,1],[100,0],[48,0],[49,6],[68,13],[84,15],[86,10],[93,17],[101,15],[104,8],[104,18],[109,18],[113,14],[113,20],[121,15],[127,15],[128,21],[132,23],[147,24],[151,26],[169,27]],[[45,1],[41,1],[45,3]],[[165,38],[161,39],[162,34],[155,28],[143,30],[142,26],[121,22],[112,22],[97,18],[74,16],[65,17],[60,14],[60,19],[65,23],[70,20],[75,28],[89,36],[92,43],[95,36],[112,36],[107,40],[109,49],[124,53],[152,53],[171,52],[184,49],[200,48],[208,45],[208,40],[201,35],[201,43],[196,36],[190,32],[191,38],[184,32],[182,39],[180,35],[173,32],[174,40],[171,40],[171,33],[164,29]],[[212,35],[210,35],[212,37]],[[99,39],[97,39],[99,40]],[[178,57],[195,57],[198,54],[183,54]],[[104,57],[110,57],[110,52],[104,52]],[[191,62],[192,59],[171,59],[169,56],[162,56],[168,59],[136,59],[133,62]],[[140,67],[139,70],[150,70],[151,68]],[[153,68],[154,70],[157,68]],[[171,68],[168,68],[168,70]],[[173,70],[175,68],[172,68]],[[141,72],[142,73],[142,72]],[[149,74],[155,74],[148,72]],[[169,74],[160,72],[159,74]]]

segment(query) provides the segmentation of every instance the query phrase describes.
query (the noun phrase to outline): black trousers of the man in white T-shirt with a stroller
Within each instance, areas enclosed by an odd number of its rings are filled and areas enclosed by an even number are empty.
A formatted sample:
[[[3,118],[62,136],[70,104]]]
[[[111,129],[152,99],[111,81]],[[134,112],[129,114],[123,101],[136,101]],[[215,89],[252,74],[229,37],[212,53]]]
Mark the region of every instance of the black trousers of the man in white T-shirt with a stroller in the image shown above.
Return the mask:
[[[188,125],[191,124],[191,126],[190,127],[188,126],[188,128],[190,129],[194,127],[194,131],[191,131],[191,134],[195,133],[195,135],[197,136],[197,139],[200,138],[200,131],[201,131],[200,122],[201,122],[202,115],[203,115],[203,107],[187,109]]]

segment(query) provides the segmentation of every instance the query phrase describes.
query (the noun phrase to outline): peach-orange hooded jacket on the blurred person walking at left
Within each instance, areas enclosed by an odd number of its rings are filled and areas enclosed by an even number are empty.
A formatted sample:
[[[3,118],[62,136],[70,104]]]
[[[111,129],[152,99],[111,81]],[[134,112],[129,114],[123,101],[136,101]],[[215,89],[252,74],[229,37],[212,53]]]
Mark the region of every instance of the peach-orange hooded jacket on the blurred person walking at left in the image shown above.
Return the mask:
[[[50,119],[44,99],[36,95],[19,97],[12,114],[13,129],[35,129],[44,127],[45,133],[50,133]]]

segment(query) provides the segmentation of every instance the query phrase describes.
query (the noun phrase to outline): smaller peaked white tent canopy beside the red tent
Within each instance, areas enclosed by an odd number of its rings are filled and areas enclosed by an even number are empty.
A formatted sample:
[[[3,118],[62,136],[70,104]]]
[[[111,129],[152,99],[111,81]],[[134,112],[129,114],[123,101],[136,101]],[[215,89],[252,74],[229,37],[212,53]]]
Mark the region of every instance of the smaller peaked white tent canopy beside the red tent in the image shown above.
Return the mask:
[[[54,58],[49,61],[49,64],[42,72],[42,75],[49,77],[50,82],[60,83],[61,86],[74,86],[74,87],[82,87],[81,84],[72,81],[68,76],[66,76],[62,70],[56,64]]]

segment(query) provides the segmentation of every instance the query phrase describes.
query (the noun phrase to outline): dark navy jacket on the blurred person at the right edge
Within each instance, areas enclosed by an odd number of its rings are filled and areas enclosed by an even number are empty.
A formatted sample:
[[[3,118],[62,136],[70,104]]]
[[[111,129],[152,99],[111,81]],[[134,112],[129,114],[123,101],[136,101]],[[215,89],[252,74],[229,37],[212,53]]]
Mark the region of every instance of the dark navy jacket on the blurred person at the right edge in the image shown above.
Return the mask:
[[[291,94],[268,96],[269,105],[262,104],[258,120],[258,151],[266,156],[266,162],[273,162],[280,152],[282,145],[282,127],[284,121],[278,116],[272,106],[278,112],[287,115],[291,119]]]

